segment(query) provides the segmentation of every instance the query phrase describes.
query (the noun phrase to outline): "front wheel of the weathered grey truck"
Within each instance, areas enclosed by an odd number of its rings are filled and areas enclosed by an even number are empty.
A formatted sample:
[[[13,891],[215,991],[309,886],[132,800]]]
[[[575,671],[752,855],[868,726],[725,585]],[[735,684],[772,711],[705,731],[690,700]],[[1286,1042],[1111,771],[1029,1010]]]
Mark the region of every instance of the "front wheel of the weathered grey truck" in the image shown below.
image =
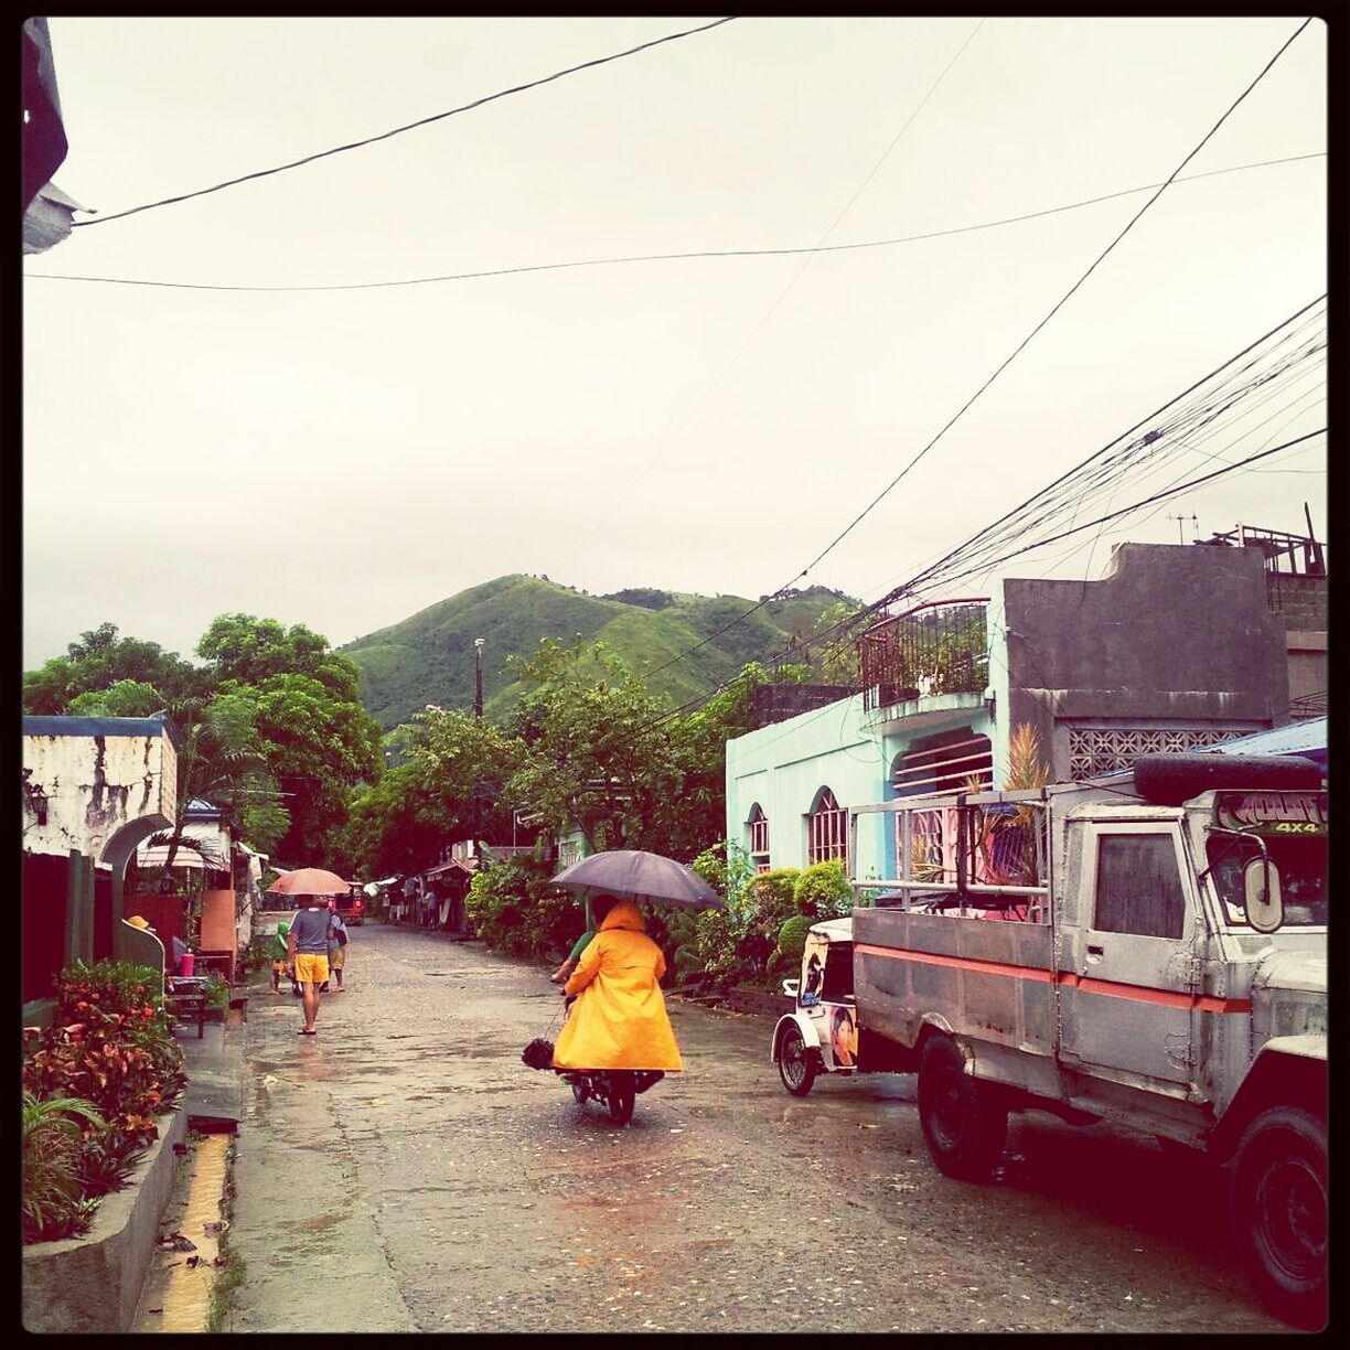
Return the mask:
[[[1300,1107],[1272,1107],[1233,1160],[1233,1227],[1262,1303],[1296,1327],[1327,1320],[1327,1127]]]

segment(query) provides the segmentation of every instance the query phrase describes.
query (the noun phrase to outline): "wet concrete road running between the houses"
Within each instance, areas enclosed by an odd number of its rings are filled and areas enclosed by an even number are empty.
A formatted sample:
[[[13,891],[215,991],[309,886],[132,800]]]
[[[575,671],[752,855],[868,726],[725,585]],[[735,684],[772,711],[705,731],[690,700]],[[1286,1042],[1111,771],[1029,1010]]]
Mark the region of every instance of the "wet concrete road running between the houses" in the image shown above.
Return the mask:
[[[911,1077],[790,1098],[768,1019],[678,1003],[686,1072],[616,1129],[520,1062],[545,969],[366,926],[348,983],[313,1038],[252,991],[230,1330],[1287,1330],[1152,1141],[1014,1116],[1002,1179],[950,1181]]]

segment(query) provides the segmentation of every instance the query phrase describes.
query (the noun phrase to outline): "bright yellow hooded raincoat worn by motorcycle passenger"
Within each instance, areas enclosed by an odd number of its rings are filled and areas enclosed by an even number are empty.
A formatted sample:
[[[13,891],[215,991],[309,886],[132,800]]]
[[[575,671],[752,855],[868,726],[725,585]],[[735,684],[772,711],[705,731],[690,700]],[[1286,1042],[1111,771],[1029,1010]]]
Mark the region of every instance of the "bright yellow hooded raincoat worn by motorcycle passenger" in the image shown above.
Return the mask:
[[[563,986],[578,998],[558,1035],[554,1068],[684,1068],[659,983],[666,957],[643,929],[630,899],[605,915]]]

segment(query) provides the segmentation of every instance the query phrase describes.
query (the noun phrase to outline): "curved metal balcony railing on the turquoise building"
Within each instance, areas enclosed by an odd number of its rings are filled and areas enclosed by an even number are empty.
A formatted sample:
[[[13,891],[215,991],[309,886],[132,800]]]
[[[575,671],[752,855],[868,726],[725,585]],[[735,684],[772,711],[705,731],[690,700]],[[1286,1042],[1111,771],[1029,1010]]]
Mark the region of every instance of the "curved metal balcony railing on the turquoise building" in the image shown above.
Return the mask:
[[[932,601],[873,624],[859,640],[863,707],[988,684],[987,597]]]

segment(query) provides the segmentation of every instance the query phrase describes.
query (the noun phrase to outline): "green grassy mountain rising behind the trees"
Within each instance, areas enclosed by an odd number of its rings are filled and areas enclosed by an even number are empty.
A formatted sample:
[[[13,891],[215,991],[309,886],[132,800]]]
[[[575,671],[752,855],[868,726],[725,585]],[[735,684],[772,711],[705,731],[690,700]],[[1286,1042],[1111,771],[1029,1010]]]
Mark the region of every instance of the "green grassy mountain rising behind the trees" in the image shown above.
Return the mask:
[[[509,713],[521,694],[506,657],[536,651],[545,637],[564,647],[578,636],[602,639],[647,676],[655,693],[682,703],[709,693],[747,662],[770,660],[794,639],[809,640],[821,616],[840,601],[856,605],[822,586],[788,591],[740,621],[752,602],[738,595],[649,587],[586,595],[536,576],[498,576],[340,651],[364,672],[366,707],[386,729],[428,703],[473,709],[475,637],[483,639],[483,710],[491,717]]]

